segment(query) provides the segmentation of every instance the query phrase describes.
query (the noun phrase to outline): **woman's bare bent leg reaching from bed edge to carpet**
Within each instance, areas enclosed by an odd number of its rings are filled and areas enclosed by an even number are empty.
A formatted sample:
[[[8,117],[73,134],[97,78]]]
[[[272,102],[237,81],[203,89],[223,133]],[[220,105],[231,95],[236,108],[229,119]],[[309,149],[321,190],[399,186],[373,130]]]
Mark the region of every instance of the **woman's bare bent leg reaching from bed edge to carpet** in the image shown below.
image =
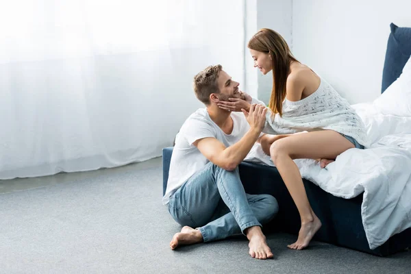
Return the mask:
[[[301,174],[293,160],[335,159],[340,153],[353,147],[354,145],[349,140],[332,130],[295,134],[277,140],[271,145],[271,159],[282,176],[301,217],[301,229],[297,242],[288,245],[290,249],[307,247],[321,227],[321,221],[312,211]]]

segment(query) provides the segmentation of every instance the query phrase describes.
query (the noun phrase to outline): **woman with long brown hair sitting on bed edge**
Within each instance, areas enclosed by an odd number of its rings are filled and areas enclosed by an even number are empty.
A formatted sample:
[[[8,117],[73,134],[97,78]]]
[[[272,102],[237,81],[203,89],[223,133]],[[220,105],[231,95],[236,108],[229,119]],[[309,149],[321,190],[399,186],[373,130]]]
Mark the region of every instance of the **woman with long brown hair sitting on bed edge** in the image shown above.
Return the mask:
[[[299,210],[301,229],[297,242],[290,249],[308,246],[320,229],[321,221],[314,214],[303,186],[301,174],[293,160],[323,159],[325,166],[347,149],[366,146],[364,123],[324,79],[292,55],[282,36],[271,29],[261,29],[249,40],[248,47],[254,67],[263,75],[273,71],[273,90],[263,132],[277,136],[263,136],[266,153],[282,176]],[[247,110],[241,99],[221,102],[227,110]],[[247,107],[245,107],[247,105]],[[247,112],[245,111],[247,116]],[[304,132],[305,134],[294,134]],[[284,138],[286,137],[286,138]]]

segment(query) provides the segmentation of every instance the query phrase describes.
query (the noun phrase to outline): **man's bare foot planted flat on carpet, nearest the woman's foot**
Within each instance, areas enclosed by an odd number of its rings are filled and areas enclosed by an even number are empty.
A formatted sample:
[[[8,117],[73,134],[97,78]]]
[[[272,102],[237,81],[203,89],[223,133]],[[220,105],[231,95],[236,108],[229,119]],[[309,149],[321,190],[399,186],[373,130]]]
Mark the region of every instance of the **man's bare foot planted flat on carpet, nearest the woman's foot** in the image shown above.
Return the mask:
[[[266,238],[262,234],[261,227],[249,227],[247,229],[247,238],[249,239],[249,254],[251,257],[265,260],[273,258],[273,253],[266,243]]]

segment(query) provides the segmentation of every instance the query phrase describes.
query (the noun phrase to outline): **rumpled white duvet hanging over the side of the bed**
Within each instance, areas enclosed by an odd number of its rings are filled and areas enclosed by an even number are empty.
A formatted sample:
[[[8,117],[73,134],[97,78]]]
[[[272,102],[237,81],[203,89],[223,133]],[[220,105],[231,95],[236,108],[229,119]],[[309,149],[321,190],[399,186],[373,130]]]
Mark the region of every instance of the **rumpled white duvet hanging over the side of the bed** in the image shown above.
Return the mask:
[[[373,103],[353,105],[366,125],[370,147],[349,149],[321,169],[314,160],[295,160],[301,176],[336,197],[364,192],[362,223],[370,249],[411,227],[411,116],[379,112]],[[273,165],[256,145],[247,161]]]

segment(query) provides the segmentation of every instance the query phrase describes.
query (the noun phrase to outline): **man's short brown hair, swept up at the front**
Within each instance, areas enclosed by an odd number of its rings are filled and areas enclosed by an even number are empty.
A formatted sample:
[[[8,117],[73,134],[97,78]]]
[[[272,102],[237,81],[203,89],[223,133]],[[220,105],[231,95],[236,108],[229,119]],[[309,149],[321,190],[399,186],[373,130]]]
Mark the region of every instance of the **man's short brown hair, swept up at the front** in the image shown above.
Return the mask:
[[[200,71],[194,77],[194,92],[197,99],[206,105],[210,104],[210,95],[212,93],[219,93],[219,85],[217,79],[219,72],[223,70],[221,64],[216,66],[208,66],[203,71]]]

